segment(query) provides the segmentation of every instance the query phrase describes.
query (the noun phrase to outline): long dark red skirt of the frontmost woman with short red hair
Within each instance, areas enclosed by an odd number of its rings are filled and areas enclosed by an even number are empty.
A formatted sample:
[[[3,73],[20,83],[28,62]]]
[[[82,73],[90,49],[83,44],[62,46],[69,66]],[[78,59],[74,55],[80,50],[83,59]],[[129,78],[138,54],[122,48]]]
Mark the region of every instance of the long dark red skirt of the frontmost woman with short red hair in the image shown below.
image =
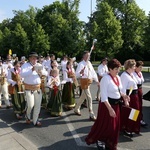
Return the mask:
[[[85,141],[89,144],[94,144],[96,141],[104,142],[110,150],[117,149],[119,131],[120,131],[120,106],[111,105],[116,112],[116,117],[109,115],[109,111],[104,103],[99,103],[98,116],[90,133]]]

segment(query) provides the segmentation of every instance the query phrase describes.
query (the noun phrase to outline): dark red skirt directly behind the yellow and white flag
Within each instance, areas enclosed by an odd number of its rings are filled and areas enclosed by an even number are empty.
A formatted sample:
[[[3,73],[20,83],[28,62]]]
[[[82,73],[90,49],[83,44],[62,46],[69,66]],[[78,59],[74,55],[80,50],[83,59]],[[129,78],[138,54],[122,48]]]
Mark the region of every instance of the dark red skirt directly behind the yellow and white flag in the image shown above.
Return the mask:
[[[140,103],[138,94],[130,95],[130,103],[129,106],[131,108],[140,110]],[[138,115],[138,118],[136,121],[129,119],[130,109],[125,109],[125,107],[122,107],[121,109],[121,130],[126,130],[127,132],[135,132],[139,134],[140,132],[140,120],[141,120],[141,112]]]

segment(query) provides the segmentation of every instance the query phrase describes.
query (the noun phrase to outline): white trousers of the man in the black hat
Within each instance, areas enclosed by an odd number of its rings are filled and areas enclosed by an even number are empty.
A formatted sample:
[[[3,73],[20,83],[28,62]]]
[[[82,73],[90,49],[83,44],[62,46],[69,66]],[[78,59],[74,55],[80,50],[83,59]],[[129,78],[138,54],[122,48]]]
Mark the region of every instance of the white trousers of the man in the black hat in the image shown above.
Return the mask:
[[[25,90],[25,96],[27,101],[27,118],[31,119],[31,111],[33,109],[33,124],[35,125],[37,123],[39,113],[41,110],[42,91]]]

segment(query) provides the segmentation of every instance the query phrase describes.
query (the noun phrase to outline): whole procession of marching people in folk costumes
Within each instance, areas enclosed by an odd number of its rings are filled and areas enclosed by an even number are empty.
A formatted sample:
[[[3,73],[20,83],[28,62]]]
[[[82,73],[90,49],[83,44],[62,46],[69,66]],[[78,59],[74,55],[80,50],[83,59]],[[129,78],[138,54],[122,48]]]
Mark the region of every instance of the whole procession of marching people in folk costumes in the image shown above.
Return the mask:
[[[0,59],[0,108],[3,95],[6,108],[13,107],[17,119],[25,117],[27,124],[33,122],[40,127],[41,106],[51,116],[61,116],[63,108],[81,116],[80,107],[86,101],[89,120],[94,121],[86,143],[96,143],[99,149],[104,143],[105,149],[117,150],[120,132],[132,137],[140,133],[141,126],[147,126],[142,113],[142,66],[142,61],[128,59],[119,76],[121,63],[117,59],[102,59],[95,71],[88,51],[76,67],[74,59],[67,56],[58,64],[53,54],[44,58],[31,52],[28,59],[23,56],[20,61],[8,55],[6,61]],[[97,118],[90,91],[93,80],[97,83],[96,100],[99,101]],[[76,89],[80,91],[78,100]],[[134,120],[129,118],[133,109],[138,111]]]

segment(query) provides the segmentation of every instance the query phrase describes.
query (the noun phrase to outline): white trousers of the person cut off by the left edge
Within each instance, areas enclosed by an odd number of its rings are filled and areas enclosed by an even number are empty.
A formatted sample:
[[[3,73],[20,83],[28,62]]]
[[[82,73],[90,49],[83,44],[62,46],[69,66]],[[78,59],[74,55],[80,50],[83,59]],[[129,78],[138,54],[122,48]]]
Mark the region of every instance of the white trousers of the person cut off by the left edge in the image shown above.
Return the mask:
[[[0,106],[2,105],[2,94],[6,106],[10,106],[9,94],[8,94],[8,83],[0,84]]]

